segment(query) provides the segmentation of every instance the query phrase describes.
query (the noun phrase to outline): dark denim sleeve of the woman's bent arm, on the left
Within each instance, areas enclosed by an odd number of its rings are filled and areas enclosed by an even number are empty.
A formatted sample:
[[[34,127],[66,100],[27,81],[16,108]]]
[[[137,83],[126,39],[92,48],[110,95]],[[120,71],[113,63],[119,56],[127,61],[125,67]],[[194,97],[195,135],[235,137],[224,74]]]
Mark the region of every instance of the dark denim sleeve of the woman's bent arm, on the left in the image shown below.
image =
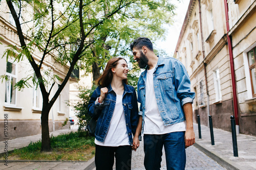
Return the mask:
[[[101,113],[101,110],[103,108],[103,102],[102,103],[98,103],[96,102],[96,100],[99,98],[100,96],[100,93],[98,93],[99,87],[97,87],[92,96],[91,96],[91,99],[89,101],[89,105],[88,105],[88,114],[91,116],[91,117],[98,117],[99,114]]]

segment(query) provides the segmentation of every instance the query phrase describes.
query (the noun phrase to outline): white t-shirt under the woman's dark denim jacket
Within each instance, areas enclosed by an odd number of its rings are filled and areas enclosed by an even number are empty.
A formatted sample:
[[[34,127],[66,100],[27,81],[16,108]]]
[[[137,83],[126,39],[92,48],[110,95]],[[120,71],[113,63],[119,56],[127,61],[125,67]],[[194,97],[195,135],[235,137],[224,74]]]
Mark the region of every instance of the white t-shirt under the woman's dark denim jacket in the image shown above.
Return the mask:
[[[116,95],[116,106],[104,142],[95,138],[95,144],[108,147],[130,145],[122,105],[122,95]]]

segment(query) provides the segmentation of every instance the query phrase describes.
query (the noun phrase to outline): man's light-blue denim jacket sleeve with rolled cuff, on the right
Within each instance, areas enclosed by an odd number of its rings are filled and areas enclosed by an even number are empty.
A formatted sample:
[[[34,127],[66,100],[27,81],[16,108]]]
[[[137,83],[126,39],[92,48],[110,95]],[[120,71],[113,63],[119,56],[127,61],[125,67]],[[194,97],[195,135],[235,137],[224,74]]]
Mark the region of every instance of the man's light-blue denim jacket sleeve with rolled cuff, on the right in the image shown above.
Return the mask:
[[[181,105],[193,103],[195,92],[190,91],[190,79],[184,65],[180,61],[174,64],[174,84],[177,96],[181,100]]]

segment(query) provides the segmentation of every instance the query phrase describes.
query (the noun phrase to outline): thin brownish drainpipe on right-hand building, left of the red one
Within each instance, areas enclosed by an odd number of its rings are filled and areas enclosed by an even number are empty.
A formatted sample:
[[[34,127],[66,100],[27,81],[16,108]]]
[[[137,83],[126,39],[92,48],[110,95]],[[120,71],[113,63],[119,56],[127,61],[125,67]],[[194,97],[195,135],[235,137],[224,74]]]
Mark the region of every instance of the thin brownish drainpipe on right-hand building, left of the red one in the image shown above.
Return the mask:
[[[204,54],[204,39],[203,39],[203,31],[202,31],[202,16],[201,16],[201,2],[198,0],[199,4],[199,18],[200,18],[200,32],[201,32],[201,41],[202,41],[202,53],[203,59],[205,58]],[[206,63],[204,62],[204,77],[205,77],[205,86],[206,86],[206,94],[207,94],[207,126],[209,127],[209,115],[210,115],[210,105],[209,105],[209,90],[208,90],[208,82],[207,82],[207,71],[206,71]]]

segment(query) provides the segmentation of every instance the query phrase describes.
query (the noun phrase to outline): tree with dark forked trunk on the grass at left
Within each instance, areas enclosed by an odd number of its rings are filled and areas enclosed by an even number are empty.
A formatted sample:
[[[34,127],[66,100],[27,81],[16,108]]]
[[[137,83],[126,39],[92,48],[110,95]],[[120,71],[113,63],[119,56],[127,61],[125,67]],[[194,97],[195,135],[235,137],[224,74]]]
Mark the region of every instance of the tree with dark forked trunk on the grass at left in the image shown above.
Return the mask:
[[[158,27],[158,19],[148,17],[151,12],[163,8],[168,11],[173,9],[173,6],[165,1],[152,0],[7,0],[7,5],[15,21],[20,49],[10,46],[5,55],[7,58],[14,57],[17,62],[23,58],[27,59],[37,79],[36,81],[33,76],[22,79],[16,83],[16,87],[19,89],[31,87],[29,80],[32,79],[42,94],[41,151],[51,150],[49,112],[67,84],[73,69],[77,68],[77,63],[85,62],[87,65],[103,63],[101,60],[105,60],[106,54],[109,54],[108,45],[118,46],[117,51],[121,48],[127,49],[125,47],[127,42],[138,35],[136,31],[145,27]],[[144,14],[148,18],[145,18]],[[143,18],[147,24],[140,27]],[[136,21],[137,19],[140,19],[140,22]],[[131,20],[137,25],[133,24],[130,27]],[[33,55],[35,51],[40,52],[39,62]],[[97,54],[92,55],[93,51]],[[120,51],[119,54],[124,55],[125,52]],[[47,71],[43,72],[42,65],[49,56],[55,60],[53,64],[69,66],[63,80],[57,74],[50,75],[46,74]],[[97,68],[98,65],[95,67]],[[56,80],[61,80],[62,83],[57,91],[53,92],[52,87]]]

